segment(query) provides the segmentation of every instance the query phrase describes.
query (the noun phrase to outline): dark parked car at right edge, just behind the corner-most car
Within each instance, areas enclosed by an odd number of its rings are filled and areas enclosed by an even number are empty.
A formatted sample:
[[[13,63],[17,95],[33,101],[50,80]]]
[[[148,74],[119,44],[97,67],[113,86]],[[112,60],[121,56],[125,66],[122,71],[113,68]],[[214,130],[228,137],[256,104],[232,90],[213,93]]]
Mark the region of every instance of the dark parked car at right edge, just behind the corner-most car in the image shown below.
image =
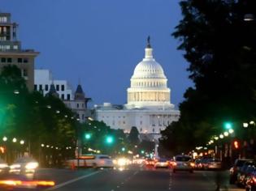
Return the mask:
[[[249,176],[255,170],[256,163],[254,161],[246,161],[241,170],[237,172],[237,181],[236,184],[240,187],[245,188],[246,177]]]

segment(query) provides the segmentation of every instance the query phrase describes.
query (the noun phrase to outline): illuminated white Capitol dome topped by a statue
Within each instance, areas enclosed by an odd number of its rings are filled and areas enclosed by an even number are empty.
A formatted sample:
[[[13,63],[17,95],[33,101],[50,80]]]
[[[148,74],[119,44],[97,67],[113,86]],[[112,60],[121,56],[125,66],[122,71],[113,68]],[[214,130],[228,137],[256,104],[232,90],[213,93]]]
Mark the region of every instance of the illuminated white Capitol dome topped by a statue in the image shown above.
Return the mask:
[[[145,57],[135,67],[128,88],[127,108],[167,107],[174,108],[170,103],[170,89],[163,68],[154,60],[150,38],[145,48]]]

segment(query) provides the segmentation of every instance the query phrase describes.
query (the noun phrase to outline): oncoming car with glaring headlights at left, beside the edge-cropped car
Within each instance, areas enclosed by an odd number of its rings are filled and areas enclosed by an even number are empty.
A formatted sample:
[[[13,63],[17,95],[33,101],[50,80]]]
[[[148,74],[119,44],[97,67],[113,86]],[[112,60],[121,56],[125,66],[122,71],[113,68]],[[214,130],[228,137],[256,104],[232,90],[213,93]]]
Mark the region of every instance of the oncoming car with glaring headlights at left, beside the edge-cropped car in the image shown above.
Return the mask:
[[[36,172],[39,163],[28,156],[21,157],[20,159],[15,160],[15,163],[10,166],[10,173],[34,173]]]

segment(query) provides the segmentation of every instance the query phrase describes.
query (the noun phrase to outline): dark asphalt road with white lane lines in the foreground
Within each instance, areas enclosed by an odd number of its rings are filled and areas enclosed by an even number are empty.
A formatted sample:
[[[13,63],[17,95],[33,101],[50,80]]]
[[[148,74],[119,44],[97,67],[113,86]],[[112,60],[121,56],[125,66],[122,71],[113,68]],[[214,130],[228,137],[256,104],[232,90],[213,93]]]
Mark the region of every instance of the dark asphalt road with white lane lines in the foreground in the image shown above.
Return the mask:
[[[55,191],[214,191],[219,176],[222,190],[243,190],[228,185],[227,172],[176,172],[170,169],[133,167],[124,171],[93,169],[41,169],[37,180],[54,180]],[[224,189],[228,188],[228,189]],[[2,190],[2,189],[0,189]],[[28,189],[15,189],[28,190]],[[33,189],[35,190],[35,189]]]

